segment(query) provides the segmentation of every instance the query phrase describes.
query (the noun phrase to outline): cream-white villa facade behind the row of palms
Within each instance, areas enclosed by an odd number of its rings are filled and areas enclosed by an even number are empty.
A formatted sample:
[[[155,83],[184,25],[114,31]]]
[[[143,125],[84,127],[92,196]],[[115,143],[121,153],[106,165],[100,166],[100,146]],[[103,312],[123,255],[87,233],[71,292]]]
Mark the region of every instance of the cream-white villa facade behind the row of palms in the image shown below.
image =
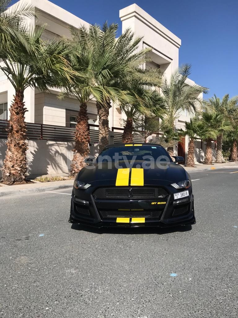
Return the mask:
[[[82,18],[76,17],[50,1],[28,0],[27,2],[39,10],[39,19],[29,19],[29,25],[31,27],[37,27],[37,25],[46,24],[46,29],[43,33],[44,39],[54,39],[59,36],[70,37],[69,25],[76,28],[81,25],[89,26],[89,23]],[[169,78],[179,66],[181,39],[136,4],[132,4],[120,10],[119,16],[122,21],[122,32],[130,28],[136,37],[143,36],[139,44],[139,49],[152,48],[152,52],[149,53],[152,62],[144,67],[160,67],[164,71],[164,76]],[[194,84],[192,80],[189,80],[189,82]],[[59,91],[53,88],[50,89],[48,93],[42,93],[37,89],[28,88],[24,94],[25,107],[28,110],[25,114],[26,122],[74,127],[75,118],[79,110],[78,100],[75,98],[59,100],[57,98],[58,93]],[[13,87],[0,70],[0,119],[8,119],[8,109],[13,94]],[[202,95],[200,97],[202,97]],[[97,125],[98,118],[95,100],[91,100],[88,103],[88,115],[89,124]],[[112,107],[109,111],[110,130],[122,128],[123,119],[125,119],[125,114],[121,112],[118,105],[112,103]],[[175,123],[175,126],[177,128],[183,128],[184,121],[188,120],[188,114],[181,112],[180,118]],[[97,128],[92,126],[92,129]],[[178,149],[180,148],[184,149],[184,152],[187,151],[187,138],[181,143],[182,145],[175,147],[175,154],[178,153]],[[179,152],[181,151],[179,150]],[[179,154],[182,155],[182,153]]]

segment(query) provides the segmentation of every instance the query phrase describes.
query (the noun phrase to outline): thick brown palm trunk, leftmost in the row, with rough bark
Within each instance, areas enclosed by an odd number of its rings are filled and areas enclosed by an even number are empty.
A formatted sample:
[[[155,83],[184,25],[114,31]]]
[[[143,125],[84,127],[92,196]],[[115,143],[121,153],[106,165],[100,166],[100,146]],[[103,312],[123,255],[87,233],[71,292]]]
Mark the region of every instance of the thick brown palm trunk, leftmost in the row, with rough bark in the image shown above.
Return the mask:
[[[25,183],[27,174],[26,123],[23,91],[17,91],[10,107],[7,150],[3,162],[2,182],[6,184]]]

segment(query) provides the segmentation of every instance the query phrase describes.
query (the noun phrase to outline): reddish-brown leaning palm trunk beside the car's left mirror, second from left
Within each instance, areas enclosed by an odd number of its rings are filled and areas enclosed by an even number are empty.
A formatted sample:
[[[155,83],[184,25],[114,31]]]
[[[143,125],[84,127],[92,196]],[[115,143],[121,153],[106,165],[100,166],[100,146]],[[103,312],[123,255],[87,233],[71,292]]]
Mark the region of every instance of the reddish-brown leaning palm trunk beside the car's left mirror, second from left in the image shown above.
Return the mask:
[[[70,176],[75,176],[83,167],[86,166],[84,159],[89,155],[89,117],[87,114],[87,103],[80,105],[80,110],[76,118],[75,145],[73,149],[73,159],[71,162]]]

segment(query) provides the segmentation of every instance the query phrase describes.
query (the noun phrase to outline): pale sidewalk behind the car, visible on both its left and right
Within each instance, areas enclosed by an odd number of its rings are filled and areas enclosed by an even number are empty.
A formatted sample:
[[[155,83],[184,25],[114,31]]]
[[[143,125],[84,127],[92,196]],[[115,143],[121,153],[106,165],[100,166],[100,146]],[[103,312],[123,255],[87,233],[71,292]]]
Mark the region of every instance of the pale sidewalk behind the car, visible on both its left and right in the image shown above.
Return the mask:
[[[183,166],[183,165],[182,165]],[[184,167],[184,166],[183,166]],[[226,162],[226,163],[215,163],[213,165],[204,165],[202,163],[196,163],[194,168],[184,167],[185,170],[190,172],[213,170],[213,169],[237,169],[238,162]],[[30,184],[21,185],[0,185],[0,197],[17,196],[21,194],[31,194],[44,191],[59,190],[65,188],[72,188],[74,179],[64,181],[53,181],[53,182],[37,182]]]

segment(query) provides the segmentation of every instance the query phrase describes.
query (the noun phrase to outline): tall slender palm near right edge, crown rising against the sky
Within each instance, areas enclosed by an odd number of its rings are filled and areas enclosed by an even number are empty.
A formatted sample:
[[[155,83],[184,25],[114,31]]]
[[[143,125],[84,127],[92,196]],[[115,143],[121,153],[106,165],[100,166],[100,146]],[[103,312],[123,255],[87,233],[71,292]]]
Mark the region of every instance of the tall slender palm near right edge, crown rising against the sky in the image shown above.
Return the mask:
[[[238,96],[235,96],[229,99],[229,94],[223,96],[222,99],[217,97],[215,94],[212,98],[209,98],[208,101],[204,102],[204,109],[212,110],[218,113],[221,113],[228,119],[229,114],[237,106]],[[216,162],[222,162],[222,140],[225,130],[221,126],[219,128],[219,134],[217,136],[217,146],[216,146]]]

